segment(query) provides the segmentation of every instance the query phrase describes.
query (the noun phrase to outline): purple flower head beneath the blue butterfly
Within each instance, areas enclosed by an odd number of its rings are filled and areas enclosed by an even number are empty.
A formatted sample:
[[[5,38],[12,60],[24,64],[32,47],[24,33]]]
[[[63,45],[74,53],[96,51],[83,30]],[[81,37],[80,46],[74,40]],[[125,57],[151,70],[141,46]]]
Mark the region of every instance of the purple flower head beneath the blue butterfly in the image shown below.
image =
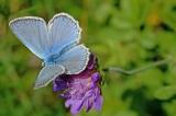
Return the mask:
[[[72,114],[77,114],[82,107],[86,112],[91,108],[101,109],[102,95],[100,89],[101,77],[98,72],[97,58],[91,54],[87,68],[79,74],[62,74],[53,82],[55,92],[66,98],[65,106],[70,107]]]

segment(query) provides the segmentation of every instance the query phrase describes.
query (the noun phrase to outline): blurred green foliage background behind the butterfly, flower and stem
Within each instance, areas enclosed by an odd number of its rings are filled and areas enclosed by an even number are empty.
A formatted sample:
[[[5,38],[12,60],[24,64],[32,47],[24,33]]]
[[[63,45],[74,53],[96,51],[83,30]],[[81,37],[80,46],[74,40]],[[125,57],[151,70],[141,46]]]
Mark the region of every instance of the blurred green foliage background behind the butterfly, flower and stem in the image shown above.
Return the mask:
[[[18,16],[48,21],[66,12],[80,22],[81,43],[102,68],[127,70],[176,58],[176,0],[0,0],[0,116],[69,116],[47,88],[33,90],[41,69],[9,30]],[[176,116],[176,61],[134,76],[105,73],[101,112],[79,116]]]

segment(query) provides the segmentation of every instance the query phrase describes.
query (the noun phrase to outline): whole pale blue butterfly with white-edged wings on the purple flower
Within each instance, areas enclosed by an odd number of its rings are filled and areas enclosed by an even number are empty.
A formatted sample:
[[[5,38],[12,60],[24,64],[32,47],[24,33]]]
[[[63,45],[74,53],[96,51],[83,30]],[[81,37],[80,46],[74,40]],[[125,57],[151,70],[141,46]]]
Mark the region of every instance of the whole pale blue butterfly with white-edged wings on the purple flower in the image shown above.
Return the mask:
[[[69,14],[58,13],[47,24],[42,18],[23,16],[10,21],[9,26],[43,60],[34,89],[46,86],[63,73],[78,74],[85,70],[90,53],[79,44],[81,28]]]

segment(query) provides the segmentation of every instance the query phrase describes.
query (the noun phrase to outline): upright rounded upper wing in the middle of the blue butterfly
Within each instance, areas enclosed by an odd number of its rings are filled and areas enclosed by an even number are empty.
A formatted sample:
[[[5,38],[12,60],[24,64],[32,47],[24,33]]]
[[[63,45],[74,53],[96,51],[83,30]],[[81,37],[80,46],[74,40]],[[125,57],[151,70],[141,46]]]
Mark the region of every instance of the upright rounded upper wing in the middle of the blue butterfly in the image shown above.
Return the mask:
[[[52,53],[59,53],[64,47],[79,43],[81,28],[78,22],[66,13],[56,14],[48,22],[48,36],[52,45]]]

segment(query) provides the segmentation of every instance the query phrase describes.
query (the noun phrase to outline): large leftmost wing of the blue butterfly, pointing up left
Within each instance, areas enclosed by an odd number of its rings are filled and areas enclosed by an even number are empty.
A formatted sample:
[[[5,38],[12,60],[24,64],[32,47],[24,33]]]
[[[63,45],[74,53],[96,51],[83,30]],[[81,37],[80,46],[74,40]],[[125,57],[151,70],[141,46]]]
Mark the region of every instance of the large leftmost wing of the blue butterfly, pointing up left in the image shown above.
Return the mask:
[[[19,39],[37,57],[44,58],[48,49],[48,36],[46,23],[36,16],[14,19],[9,23]]]

